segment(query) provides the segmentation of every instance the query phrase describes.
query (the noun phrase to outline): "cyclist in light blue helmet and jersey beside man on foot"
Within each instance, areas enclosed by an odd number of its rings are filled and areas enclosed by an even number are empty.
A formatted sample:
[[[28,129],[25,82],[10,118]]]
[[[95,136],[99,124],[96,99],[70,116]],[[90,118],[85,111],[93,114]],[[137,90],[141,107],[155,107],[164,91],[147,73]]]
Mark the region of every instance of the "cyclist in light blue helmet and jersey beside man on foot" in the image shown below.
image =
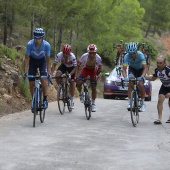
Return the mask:
[[[124,57],[124,63],[123,63],[123,77],[125,80],[127,79],[127,73],[126,69],[128,67],[128,77],[142,77],[145,80],[145,75],[147,72],[146,67],[146,59],[142,52],[137,50],[137,44],[134,42],[131,42],[127,44],[126,51],[127,54]],[[141,111],[144,112],[146,109],[146,106],[144,104],[145,99],[145,87],[143,85],[142,81],[139,81],[138,83],[139,89],[140,89],[140,96],[141,96]],[[128,86],[128,110],[130,109],[130,96],[133,89],[133,82],[129,82]]]

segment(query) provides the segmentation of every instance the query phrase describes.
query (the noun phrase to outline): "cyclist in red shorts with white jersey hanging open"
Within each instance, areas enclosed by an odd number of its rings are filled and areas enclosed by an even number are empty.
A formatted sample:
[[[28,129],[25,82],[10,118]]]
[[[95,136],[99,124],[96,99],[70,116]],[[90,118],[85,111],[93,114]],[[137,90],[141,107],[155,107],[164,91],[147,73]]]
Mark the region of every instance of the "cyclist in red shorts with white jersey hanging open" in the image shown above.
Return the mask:
[[[95,44],[90,44],[87,47],[87,53],[84,53],[80,60],[78,61],[78,69],[80,66],[83,66],[81,73],[78,77],[77,81],[77,89],[79,91],[80,101],[83,103],[83,92],[82,92],[82,84],[83,78],[90,76],[91,80],[91,88],[92,88],[92,112],[96,112],[96,86],[97,86],[97,77],[101,72],[102,68],[102,60],[99,54],[97,54],[97,46]]]

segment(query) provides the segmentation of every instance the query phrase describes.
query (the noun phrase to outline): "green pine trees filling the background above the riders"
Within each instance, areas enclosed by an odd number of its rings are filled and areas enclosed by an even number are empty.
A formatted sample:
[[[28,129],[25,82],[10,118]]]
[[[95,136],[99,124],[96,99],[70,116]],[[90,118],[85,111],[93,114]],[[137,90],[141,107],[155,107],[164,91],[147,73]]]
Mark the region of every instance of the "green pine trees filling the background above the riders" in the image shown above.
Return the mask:
[[[147,36],[167,29],[169,9],[169,0],[3,0],[0,35],[5,40],[19,31],[29,40],[33,29],[42,27],[52,50],[69,43],[79,57],[95,43],[99,53],[112,60],[114,42],[140,41],[142,31]]]

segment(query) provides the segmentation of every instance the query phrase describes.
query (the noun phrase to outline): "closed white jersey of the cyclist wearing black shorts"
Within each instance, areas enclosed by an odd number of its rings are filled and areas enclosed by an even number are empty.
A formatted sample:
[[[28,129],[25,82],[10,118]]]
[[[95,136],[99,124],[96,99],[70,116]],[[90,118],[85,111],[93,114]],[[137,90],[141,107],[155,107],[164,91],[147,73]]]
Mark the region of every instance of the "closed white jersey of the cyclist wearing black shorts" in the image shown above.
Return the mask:
[[[77,66],[77,60],[76,57],[73,53],[70,53],[69,57],[67,60],[65,60],[64,56],[63,56],[63,52],[59,52],[56,56],[55,56],[55,60],[54,63],[58,63],[61,62],[62,64],[64,64],[66,67],[75,67]]]

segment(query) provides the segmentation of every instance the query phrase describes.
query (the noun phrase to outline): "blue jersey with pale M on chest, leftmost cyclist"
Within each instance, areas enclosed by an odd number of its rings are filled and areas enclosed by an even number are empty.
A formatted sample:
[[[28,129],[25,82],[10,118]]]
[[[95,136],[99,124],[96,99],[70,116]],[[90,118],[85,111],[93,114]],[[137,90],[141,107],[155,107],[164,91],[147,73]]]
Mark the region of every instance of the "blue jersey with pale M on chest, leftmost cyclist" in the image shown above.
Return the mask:
[[[33,59],[42,59],[45,56],[50,56],[50,44],[43,40],[40,49],[37,49],[34,39],[27,43],[26,55]]]

